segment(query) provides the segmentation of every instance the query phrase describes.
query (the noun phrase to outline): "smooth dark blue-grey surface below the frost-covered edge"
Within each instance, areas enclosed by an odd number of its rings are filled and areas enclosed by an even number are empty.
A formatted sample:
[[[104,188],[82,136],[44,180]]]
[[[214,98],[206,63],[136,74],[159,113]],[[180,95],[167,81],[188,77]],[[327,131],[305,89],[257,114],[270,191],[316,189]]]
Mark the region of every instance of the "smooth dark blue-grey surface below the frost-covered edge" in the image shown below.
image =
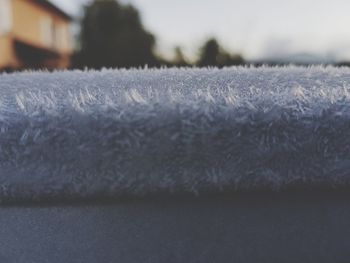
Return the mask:
[[[0,262],[349,262],[349,194],[0,208]]]

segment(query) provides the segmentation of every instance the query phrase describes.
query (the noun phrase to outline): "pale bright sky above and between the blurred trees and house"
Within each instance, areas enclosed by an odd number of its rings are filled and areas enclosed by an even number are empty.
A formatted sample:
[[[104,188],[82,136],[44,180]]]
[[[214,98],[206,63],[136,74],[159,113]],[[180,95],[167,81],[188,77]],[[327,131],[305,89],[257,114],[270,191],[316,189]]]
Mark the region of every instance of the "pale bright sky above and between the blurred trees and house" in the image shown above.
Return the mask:
[[[79,14],[89,0],[51,0]],[[208,37],[247,59],[310,53],[350,59],[350,0],[122,0],[141,13],[171,57],[174,46],[194,57]]]

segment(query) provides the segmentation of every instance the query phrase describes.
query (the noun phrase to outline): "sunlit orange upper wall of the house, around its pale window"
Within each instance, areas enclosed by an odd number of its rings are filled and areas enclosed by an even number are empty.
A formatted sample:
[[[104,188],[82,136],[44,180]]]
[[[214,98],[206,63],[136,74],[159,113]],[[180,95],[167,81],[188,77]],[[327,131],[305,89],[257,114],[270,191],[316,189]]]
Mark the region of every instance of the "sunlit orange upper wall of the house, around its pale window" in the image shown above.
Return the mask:
[[[27,41],[36,46],[53,48],[45,45],[42,37],[41,23],[45,17],[51,16],[55,27],[64,27],[67,33],[67,40],[64,45],[57,47],[61,53],[70,53],[71,44],[69,39],[69,22],[55,12],[48,10],[31,0],[12,0],[13,30],[15,37]]]

